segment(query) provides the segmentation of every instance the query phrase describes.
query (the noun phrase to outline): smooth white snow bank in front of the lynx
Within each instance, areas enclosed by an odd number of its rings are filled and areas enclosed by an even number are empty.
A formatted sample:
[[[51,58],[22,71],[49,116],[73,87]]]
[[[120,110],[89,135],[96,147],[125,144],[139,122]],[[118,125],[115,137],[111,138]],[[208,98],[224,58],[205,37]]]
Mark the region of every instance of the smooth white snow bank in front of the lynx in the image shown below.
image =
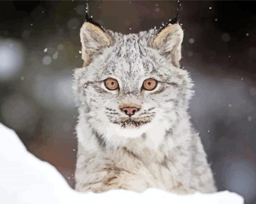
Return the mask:
[[[240,195],[228,191],[176,195],[151,188],[144,193],[126,190],[79,193],[69,187],[55,167],[29,153],[16,133],[1,123],[0,137],[0,203],[243,203]]]

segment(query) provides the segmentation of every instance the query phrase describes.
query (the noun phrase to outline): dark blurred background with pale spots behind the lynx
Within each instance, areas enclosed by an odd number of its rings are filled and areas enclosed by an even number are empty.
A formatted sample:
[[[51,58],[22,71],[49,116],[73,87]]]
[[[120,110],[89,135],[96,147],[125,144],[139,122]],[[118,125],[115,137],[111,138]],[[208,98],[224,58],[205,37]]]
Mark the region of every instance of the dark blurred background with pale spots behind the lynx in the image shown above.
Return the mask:
[[[0,2],[0,122],[71,187],[77,140],[72,71],[82,67],[86,1]],[[255,2],[185,1],[181,66],[195,82],[192,122],[219,190],[256,203]],[[137,33],[174,18],[175,1],[89,1],[106,29]],[[12,147],[10,147],[12,148]]]

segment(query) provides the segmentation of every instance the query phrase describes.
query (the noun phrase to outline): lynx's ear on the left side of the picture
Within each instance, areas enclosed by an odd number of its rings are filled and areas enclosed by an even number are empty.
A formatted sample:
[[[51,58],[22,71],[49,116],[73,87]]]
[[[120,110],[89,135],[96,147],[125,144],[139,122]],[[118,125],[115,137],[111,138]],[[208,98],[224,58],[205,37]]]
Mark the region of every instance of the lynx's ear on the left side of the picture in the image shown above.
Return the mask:
[[[82,43],[83,66],[91,62],[91,58],[102,53],[103,49],[110,46],[110,37],[99,27],[85,22],[80,30]]]

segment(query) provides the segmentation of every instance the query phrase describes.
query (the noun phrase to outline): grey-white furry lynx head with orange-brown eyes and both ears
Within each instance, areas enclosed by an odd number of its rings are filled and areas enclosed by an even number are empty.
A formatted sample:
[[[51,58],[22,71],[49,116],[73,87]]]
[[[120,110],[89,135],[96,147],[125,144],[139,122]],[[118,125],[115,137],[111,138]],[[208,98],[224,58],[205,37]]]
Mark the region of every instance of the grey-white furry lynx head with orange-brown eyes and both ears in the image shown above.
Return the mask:
[[[123,35],[84,23],[80,37],[84,66],[75,70],[73,86],[80,122],[107,141],[147,132],[160,137],[186,112],[192,83],[179,68],[179,24]]]

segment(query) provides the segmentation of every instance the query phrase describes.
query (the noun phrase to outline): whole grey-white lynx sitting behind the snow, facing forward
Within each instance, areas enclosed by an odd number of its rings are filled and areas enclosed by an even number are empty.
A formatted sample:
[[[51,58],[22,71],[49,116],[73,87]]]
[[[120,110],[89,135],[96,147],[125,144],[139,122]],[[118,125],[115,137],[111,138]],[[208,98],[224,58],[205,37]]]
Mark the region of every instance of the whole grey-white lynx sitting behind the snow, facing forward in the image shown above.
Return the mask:
[[[180,25],[123,35],[85,22],[80,38],[76,190],[216,191],[187,111],[194,91],[179,64]]]

